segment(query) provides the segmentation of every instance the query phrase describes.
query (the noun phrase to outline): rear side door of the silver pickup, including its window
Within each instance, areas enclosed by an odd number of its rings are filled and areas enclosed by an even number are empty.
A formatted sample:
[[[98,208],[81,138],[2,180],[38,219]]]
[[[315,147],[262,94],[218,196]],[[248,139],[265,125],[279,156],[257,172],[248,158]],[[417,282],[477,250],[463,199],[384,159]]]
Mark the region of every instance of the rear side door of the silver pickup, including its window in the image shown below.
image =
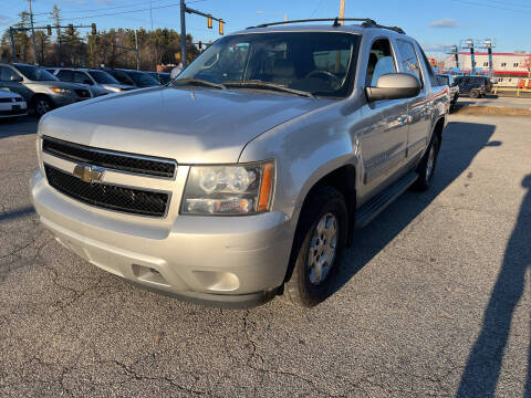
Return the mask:
[[[407,139],[406,157],[414,159],[428,146],[429,129],[431,126],[431,85],[426,83],[425,71],[420,64],[414,42],[406,39],[396,39],[396,48],[399,59],[399,69],[403,73],[409,73],[420,82],[420,93],[408,101],[409,132]]]

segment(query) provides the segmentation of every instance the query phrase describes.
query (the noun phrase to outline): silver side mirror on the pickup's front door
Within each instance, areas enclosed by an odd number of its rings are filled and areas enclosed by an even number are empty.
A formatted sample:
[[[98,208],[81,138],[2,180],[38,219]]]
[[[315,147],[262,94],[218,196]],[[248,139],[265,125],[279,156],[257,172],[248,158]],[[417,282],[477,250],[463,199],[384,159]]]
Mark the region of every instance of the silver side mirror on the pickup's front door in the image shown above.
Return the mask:
[[[388,73],[379,76],[376,87],[366,87],[368,102],[413,98],[420,93],[420,82],[408,73]]]

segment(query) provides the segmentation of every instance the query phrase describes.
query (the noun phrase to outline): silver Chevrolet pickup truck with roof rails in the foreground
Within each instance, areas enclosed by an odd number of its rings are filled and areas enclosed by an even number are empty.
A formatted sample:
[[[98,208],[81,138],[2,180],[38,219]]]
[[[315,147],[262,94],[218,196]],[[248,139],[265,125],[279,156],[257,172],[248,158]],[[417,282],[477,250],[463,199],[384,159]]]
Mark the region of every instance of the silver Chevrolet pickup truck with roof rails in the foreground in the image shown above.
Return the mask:
[[[181,300],[325,300],[355,229],[429,188],[449,104],[400,29],[340,22],[250,28],[167,86],[46,114],[30,182],[42,223]]]

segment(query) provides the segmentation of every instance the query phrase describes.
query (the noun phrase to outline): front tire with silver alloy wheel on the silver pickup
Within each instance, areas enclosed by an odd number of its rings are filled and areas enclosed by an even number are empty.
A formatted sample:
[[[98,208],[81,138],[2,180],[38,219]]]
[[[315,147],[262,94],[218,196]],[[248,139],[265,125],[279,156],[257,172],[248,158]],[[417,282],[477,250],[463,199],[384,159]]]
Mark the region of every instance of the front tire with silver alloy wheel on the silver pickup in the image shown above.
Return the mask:
[[[346,247],[348,213],[343,195],[317,188],[302,209],[296,228],[283,297],[312,307],[326,300],[335,285]]]

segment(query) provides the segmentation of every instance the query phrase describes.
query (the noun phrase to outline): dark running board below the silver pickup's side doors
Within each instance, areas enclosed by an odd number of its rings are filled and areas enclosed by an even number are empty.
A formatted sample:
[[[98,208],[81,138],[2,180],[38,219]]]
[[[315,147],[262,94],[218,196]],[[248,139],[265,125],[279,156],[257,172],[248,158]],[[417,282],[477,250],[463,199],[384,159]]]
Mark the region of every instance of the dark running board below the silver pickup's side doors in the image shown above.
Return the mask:
[[[373,221],[387,206],[404,193],[417,178],[417,172],[412,171],[363,205],[356,211],[356,223],[354,227],[363,228]]]

